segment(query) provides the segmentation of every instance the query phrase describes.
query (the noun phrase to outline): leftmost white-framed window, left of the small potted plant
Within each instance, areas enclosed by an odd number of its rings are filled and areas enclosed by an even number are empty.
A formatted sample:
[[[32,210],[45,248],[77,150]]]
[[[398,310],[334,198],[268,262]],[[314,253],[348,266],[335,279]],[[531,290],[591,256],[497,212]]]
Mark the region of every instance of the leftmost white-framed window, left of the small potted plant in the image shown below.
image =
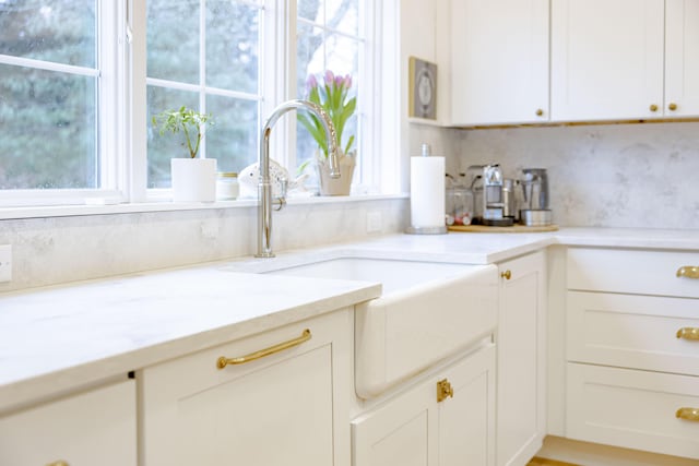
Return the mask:
[[[0,1],[0,205],[121,196],[118,10]]]

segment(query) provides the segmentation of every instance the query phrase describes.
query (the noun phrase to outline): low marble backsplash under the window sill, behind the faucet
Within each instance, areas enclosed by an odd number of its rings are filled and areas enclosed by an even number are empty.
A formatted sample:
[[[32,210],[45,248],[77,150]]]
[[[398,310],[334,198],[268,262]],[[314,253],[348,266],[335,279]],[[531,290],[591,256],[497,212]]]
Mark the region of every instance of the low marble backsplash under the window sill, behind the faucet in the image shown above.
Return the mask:
[[[401,231],[407,199],[287,205],[274,213],[275,251]],[[380,216],[368,232],[367,215]],[[374,226],[372,226],[374,228]],[[0,292],[251,255],[257,208],[90,215],[0,220],[12,244],[12,282]]]

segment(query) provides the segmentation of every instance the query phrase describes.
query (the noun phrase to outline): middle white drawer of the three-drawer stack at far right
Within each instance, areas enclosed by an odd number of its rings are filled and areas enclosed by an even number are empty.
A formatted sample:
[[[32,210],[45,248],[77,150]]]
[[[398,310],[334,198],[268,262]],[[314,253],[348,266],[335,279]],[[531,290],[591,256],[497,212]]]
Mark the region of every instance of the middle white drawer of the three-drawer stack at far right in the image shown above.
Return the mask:
[[[568,360],[699,375],[699,301],[568,291]]]

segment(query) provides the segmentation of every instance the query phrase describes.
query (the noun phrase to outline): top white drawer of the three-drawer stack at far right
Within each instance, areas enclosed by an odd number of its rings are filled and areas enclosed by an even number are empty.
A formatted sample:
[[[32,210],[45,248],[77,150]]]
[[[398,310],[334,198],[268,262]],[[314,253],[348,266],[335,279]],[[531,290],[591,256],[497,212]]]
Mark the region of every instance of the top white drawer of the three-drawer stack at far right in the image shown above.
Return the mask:
[[[568,289],[699,298],[699,274],[677,276],[699,253],[570,248],[567,263]]]

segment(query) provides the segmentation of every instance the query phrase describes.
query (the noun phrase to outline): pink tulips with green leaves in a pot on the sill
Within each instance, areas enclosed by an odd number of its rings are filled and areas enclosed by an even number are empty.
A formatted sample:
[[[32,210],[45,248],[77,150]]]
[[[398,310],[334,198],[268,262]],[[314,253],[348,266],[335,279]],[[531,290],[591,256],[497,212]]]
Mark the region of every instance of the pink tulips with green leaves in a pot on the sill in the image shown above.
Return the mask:
[[[320,106],[335,127],[335,144],[340,151],[341,178],[333,179],[329,176],[328,163],[328,140],[322,123],[315,115],[307,111],[299,111],[297,120],[306,128],[318,144],[316,152],[316,163],[318,167],[318,178],[320,192],[323,195],[347,195],[352,187],[352,175],[356,164],[356,151],[354,134],[346,135],[345,127],[347,121],[354,116],[357,108],[357,97],[352,96],[352,76],[335,75],[332,71],[325,71],[323,83],[320,84],[316,75],[310,74],[306,81],[306,98]]]

